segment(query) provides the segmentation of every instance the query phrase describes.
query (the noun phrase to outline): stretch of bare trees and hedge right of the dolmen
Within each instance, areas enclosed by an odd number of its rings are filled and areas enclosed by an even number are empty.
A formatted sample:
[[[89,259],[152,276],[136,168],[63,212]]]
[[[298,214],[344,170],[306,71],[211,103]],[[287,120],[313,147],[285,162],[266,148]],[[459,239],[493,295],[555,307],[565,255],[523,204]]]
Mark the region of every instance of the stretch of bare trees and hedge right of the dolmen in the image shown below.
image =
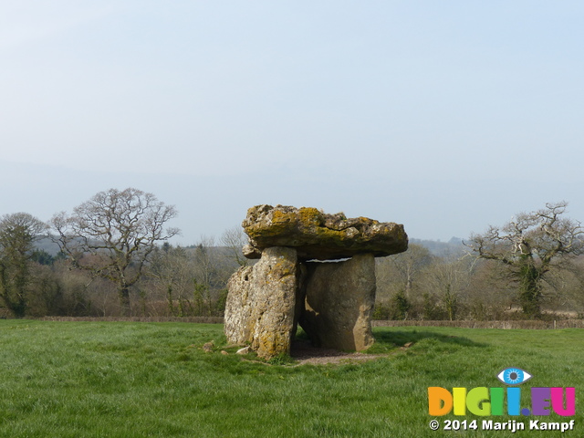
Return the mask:
[[[378,259],[375,318],[582,318],[584,230],[567,206],[516,214],[450,255],[411,244]]]

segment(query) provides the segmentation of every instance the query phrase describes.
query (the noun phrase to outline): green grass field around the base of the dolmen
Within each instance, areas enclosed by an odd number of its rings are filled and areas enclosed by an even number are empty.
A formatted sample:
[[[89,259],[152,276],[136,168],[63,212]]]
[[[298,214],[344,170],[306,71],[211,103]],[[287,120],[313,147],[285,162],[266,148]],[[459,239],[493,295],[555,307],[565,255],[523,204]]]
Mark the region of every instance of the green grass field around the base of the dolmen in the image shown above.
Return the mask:
[[[375,328],[366,363],[292,366],[221,353],[223,326],[0,321],[0,437],[506,437],[432,432],[427,388],[576,387],[584,436],[584,330]],[[204,353],[205,342],[217,350]],[[410,349],[399,349],[413,341]],[[397,347],[396,347],[397,346]],[[527,397],[524,391],[524,396]],[[526,398],[528,401],[529,399]],[[482,420],[474,415],[444,419]],[[528,423],[528,417],[488,417]],[[513,436],[534,436],[529,431]],[[537,436],[559,436],[540,432]]]

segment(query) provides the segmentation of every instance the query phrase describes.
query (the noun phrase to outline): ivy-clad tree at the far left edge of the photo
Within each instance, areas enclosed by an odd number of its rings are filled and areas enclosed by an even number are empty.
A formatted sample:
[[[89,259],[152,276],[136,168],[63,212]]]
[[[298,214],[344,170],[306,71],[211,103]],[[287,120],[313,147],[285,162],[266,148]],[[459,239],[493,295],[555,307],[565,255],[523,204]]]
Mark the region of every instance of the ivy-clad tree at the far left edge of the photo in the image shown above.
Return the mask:
[[[5,214],[0,219],[0,298],[16,318],[26,313],[26,289],[34,242],[47,225],[31,214]]]

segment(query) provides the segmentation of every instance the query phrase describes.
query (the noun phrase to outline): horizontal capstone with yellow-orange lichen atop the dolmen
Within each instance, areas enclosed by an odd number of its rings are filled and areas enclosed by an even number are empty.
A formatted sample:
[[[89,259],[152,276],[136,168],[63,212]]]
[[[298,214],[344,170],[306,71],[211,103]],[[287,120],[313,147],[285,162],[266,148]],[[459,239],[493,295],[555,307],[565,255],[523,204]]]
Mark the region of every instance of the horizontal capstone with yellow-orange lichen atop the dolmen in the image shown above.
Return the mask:
[[[323,214],[316,208],[256,205],[243,222],[248,258],[259,258],[271,246],[296,248],[301,260],[334,260],[357,254],[392,255],[408,248],[403,225],[380,223],[344,214]]]

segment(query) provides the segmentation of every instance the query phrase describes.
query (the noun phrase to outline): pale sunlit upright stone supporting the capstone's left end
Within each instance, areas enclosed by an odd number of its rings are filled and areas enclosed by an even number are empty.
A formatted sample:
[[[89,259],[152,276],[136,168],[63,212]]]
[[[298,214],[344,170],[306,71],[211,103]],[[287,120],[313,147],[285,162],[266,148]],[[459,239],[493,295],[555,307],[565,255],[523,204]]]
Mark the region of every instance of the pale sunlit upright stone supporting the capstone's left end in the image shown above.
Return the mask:
[[[262,358],[289,353],[297,301],[296,250],[266,248],[259,262],[240,268],[227,287],[227,341],[250,343]]]

